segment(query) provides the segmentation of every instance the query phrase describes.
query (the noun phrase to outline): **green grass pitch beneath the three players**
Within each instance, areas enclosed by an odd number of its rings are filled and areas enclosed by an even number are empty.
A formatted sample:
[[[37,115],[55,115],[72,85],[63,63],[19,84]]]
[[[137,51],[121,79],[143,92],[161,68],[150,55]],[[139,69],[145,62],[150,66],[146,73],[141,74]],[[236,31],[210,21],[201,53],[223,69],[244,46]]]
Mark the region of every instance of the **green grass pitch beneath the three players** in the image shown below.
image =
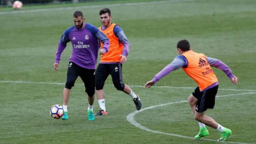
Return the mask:
[[[188,39],[194,51],[222,60],[239,77],[238,85],[233,85],[225,73],[214,69],[219,92],[214,109],[206,114],[233,131],[227,143],[256,143],[256,1],[48,6],[0,10],[0,143],[219,143],[220,133],[210,127],[210,137],[193,139],[199,128],[186,100],[196,83],[181,69],[150,89],[142,88],[178,54],[180,39]],[[110,8],[113,22],[131,43],[123,79],[140,94],[142,109],[134,112],[129,95],[117,91],[108,78],[109,115],[89,122],[87,96],[78,78],[69,100],[69,120],[53,119],[49,109],[62,104],[71,53],[68,44],[56,73],[53,62],[59,38],[73,25],[76,10],[84,12],[86,22],[100,26],[98,13],[103,7]],[[94,111],[98,111],[97,99]]]

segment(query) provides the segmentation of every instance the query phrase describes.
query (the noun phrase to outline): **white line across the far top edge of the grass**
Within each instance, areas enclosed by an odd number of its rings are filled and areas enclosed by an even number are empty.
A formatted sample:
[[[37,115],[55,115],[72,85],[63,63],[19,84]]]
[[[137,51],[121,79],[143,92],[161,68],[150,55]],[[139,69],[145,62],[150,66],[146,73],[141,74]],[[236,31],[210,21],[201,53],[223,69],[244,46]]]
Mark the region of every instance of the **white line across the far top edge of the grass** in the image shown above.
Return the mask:
[[[33,13],[33,12],[48,12],[48,11],[61,11],[61,10],[77,10],[77,9],[94,9],[102,7],[117,7],[117,6],[133,6],[133,5],[145,5],[145,4],[165,4],[165,3],[180,3],[180,2],[193,2],[196,0],[173,0],[173,1],[159,1],[159,2],[134,2],[134,3],[119,3],[119,4],[105,4],[105,5],[87,5],[87,6],[70,6],[70,7],[59,7],[49,9],[35,9],[35,10],[18,10],[18,11],[6,11],[0,12],[0,14],[14,14],[14,13]]]

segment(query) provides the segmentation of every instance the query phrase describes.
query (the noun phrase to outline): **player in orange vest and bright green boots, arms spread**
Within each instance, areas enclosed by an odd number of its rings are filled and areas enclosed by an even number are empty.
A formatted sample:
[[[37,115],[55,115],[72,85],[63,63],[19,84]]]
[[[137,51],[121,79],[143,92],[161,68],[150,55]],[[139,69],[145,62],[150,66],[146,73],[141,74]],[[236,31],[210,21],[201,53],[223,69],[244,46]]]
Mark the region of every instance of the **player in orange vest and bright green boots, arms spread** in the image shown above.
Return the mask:
[[[151,81],[147,82],[144,88],[153,86],[171,71],[182,68],[198,84],[198,87],[188,97],[189,105],[200,127],[195,139],[209,135],[205,127],[207,125],[221,132],[221,137],[218,141],[225,141],[231,135],[231,130],[215,122],[210,116],[205,115],[205,111],[208,108],[213,109],[215,95],[218,91],[218,79],[213,73],[211,66],[224,71],[234,84],[237,84],[238,78],[232,74],[230,68],[222,61],[190,50],[190,44],[186,39],[178,42],[177,49],[180,55],[175,57],[169,65],[156,74]]]

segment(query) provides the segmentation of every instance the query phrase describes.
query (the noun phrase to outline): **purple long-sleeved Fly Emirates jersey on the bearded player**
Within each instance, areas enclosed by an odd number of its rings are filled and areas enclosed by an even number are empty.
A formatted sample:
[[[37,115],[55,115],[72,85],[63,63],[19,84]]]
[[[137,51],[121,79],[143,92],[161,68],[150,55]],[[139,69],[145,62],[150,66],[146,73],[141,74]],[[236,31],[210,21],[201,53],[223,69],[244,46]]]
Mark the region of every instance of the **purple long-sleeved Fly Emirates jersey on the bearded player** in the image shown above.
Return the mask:
[[[69,59],[83,68],[95,69],[100,42],[103,43],[103,49],[106,52],[109,49],[109,39],[97,27],[90,23],[85,23],[81,29],[72,26],[65,30],[60,38],[58,50],[55,55],[56,63],[59,63],[61,53],[70,41],[73,51]]]

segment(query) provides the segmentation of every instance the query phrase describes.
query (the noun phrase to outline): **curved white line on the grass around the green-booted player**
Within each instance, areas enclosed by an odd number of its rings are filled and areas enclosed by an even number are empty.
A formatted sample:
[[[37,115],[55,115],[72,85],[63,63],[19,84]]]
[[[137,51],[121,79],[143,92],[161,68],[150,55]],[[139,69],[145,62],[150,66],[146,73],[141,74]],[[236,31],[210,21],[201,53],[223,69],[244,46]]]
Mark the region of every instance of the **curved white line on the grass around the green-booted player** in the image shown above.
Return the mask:
[[[238,93],[238,94],[227,94],[227,95],[219,95],[217,96],[217,98],[222,98],[222,97],[230,97],[230,96],[236,96],[236,95],[246,95],[246,94],[255,94],[256,92],[248,92],[248,93]],[[142,111],[148,110],[148,109],[153,109],[156,107],[162,107],[162,106],[166,106],[166,105],[172,105],[175,103],[183,103],[183,102],[187,102],[187,100],[182,100],[182,101],[175,101],[175,102],[169,102],[169,103],[163,103],[161,105],[155,105],[155,106],[150,106],[147,108],[143,108],[140,109],[139,111],[134,111],[133,113],[127,115],[126,119],[128,122],[130,122],[132,125],[138,127],[141,130],[147,131],[147,132],[151,132],[151,133],[158,133],[158,134],[165,134],[165,135],[171,135],[173,137],[180,137],[180,138],[185,138],[185,139],[194,139],[193,137],[187,137],[184,135],[179,135],[179,134],[174,134],[174,133],[166,133],[166,132],[161,132],[161,131],[155,131],[155,130],[150,130],[145,126],[142,126],[140,123],[138,123],[137,121],[135,121],[134,116]],[[201,139],[204,141],[214,141],[214,142],[218,142],[217,140],[212,140],[212,139]],[[221,141],[222,142],[222,141]],[[223,141],[224,143],[237,143],[237,144],[242,144],[243,142],[234,142],[234,141]],[[244,144],[248,144],[248,143],[244,143]]]

